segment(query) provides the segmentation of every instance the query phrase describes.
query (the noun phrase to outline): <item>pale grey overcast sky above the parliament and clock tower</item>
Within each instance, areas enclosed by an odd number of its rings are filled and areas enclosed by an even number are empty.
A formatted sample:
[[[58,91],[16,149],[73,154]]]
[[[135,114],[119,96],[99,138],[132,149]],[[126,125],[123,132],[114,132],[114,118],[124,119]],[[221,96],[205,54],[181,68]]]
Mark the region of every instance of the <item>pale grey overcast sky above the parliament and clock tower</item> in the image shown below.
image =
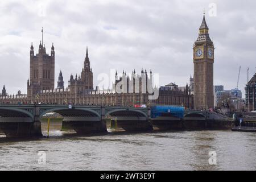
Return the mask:
[[[27,92],[30,46],[33,42],[38,52],[42,27],[46,51],[52,42],[55,46],[55,82],[60,69],[65,85],[71,73],[80,74],[88,46],[94,86],[100,73],[134,68],[152,68],[160,85],[185,86],[193,75],[192,48],[205,9],[216,48],[214,85],[235,88],[241,65],[244,93],[247,67],[249,77],[256,67],[255,8],[254,0],[0,0],[0,87]]]

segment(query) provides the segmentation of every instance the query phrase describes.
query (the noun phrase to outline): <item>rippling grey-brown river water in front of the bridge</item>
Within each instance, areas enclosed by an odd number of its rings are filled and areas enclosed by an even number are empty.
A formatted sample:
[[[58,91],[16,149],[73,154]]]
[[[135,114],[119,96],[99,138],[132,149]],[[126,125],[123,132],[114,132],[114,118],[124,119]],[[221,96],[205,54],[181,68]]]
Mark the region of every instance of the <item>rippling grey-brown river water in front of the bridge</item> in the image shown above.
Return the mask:
[[[168,131],[79,137],[0,138],[0,170],[255,170],[256,133]],[[46,135],[46,126],[42,126]],[[39,151],[46,154],[40,163]],[[216,152],[216,165],[209,152]]]

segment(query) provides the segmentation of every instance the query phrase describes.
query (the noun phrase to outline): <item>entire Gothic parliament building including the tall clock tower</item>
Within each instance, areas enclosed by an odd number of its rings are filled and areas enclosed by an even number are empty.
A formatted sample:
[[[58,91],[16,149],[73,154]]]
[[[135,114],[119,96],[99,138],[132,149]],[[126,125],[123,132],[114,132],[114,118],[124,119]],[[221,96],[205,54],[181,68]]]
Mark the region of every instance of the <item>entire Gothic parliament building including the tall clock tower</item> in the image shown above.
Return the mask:
[[[63,74],[60,71],[55,87],[55,47],[52,44],[48,54],[42,42],[35,54],[34,46],[30,47],[30,75],[27,80],[27,94],[18,92],[16,95],[6,93],[3,86],[0,103],[7,104],[78,104],[78,105],[182,105],[189,109],[213,108],[213,61],[214,47],[209,38],[209,28],[203,17],[199,29],[199,37],[193,46],[194,78],[193,84],[179,87],[175,83],[158,88],[158,98],[149,100],[152,93],[143,92],[143,88],[152,85],[152,71],[141,70],[122,77],[115,73],[112,89],[99,90],[93,85],[93,71],[90,67],[88,48],[86,48],[82,71],[79,76],[71,75],[67,88],[64,87]],[[138,84],[135,80],[138,80]],[[132,92],[116,92],[119,82],[127,82],[126,88]],[[129,84],[128,84],[129,83]],[[131,88],[129,88],[131,87]],[[147,91],[147,89],[146,89]]]

